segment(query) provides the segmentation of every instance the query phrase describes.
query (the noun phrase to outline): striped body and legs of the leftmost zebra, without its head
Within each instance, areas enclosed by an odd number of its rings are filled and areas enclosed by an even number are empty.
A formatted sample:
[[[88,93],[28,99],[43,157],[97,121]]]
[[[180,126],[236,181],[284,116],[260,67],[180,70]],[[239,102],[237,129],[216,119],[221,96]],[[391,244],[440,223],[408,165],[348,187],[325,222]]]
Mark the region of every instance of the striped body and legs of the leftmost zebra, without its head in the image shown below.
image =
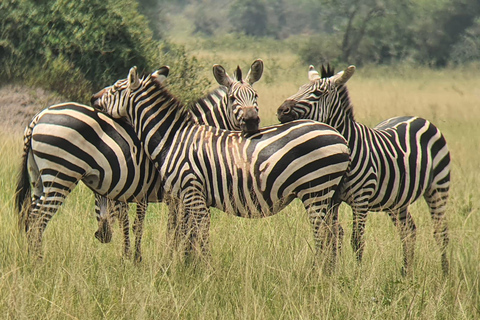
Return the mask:
[[[79,181],[98,195],[124,203],[162,198],[159,172],[132,128],[92,107],[77,103],[51,106],[34,117],[24,136],[16,203],[38,253],[47,223]],[[108,205],[105,199],[97,200],[99,207]],[[110,205],[126,214],[125,205]],[[136,225],[142,218],[137,216]],[[128,219],[127,225],[124,219],[122,222],[128,235]],[[141,234],[141,228],[135,229]],[[128,241],[125,238],[127,255]]]

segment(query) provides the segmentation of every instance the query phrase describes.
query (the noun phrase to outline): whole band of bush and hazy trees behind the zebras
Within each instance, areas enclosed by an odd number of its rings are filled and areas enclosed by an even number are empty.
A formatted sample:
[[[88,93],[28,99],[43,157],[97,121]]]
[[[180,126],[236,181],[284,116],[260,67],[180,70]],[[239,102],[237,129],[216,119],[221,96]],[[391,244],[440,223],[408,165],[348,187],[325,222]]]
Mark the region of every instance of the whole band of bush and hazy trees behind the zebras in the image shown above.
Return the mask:
[[[189,36],[276,41],[305,64],[480,60],[479,0],[2,0],[0,79],[86,101],[131,66],[161,61],[188,100],[210,83],[169,34],[179,17]]]

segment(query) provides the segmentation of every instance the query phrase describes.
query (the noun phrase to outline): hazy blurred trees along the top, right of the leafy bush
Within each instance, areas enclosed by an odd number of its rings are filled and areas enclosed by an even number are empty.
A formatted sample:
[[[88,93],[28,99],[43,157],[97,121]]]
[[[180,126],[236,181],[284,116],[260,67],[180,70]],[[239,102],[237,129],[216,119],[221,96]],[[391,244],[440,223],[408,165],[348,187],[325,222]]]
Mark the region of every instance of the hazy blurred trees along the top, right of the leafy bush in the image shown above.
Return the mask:
[[[297,54],[306,63],[409,61],[443,67],[480,59],[479,0],[168,2],[193,21],[194,32],[206,36],[302,37]]]

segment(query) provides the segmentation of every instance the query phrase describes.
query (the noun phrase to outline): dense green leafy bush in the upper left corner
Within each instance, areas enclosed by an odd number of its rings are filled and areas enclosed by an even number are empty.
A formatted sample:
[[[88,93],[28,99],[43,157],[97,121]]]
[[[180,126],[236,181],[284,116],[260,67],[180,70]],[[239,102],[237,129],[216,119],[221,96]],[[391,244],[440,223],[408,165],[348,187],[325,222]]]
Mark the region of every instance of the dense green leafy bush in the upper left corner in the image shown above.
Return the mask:
[[[134,0],[11,0],[0,3],[0,76],[86,101],[133,65],[159,61]]]

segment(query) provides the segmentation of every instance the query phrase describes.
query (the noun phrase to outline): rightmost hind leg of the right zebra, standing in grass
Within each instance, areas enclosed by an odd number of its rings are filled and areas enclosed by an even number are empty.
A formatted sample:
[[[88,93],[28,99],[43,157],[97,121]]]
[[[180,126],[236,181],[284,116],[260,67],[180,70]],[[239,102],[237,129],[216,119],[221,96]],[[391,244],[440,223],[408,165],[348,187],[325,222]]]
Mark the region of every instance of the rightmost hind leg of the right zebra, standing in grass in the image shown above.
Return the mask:
[[[447,208],[448,188],[427,190],[424,198],[427,201],[430,209],[430,215],[433,220],[433,235],[442,252],[442,271],[444,274],[447,274],[449,270],[447,258],[447,246],[449,238],[445,210]]]

